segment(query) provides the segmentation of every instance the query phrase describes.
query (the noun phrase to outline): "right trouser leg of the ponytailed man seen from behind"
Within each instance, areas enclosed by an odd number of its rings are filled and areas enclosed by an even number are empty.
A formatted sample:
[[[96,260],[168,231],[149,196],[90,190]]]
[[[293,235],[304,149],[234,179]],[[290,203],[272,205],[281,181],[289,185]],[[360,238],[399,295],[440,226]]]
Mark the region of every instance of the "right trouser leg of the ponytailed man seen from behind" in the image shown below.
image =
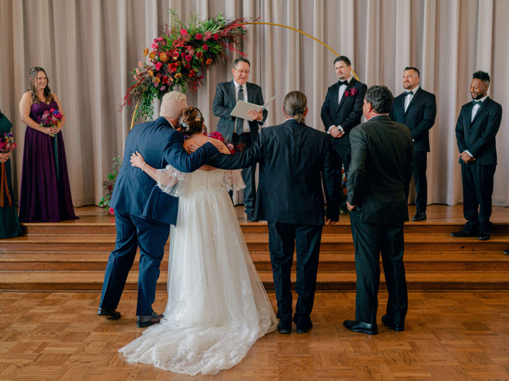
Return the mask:
[[[322,225],[297,226],[295,230],[295,247],[297,252],[297,281],[295,292],[298,295],[293,321],[305,326],[315,301],[318,258]]]

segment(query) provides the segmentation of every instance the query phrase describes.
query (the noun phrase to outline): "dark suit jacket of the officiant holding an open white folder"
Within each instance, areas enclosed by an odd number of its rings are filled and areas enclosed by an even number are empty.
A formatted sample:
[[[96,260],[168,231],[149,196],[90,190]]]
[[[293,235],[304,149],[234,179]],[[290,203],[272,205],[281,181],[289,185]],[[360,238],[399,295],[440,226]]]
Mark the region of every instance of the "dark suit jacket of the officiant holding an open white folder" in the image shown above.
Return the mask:
[[[254,83],[246,82],[247,89],[247,102],[263,106],[262,88]],[[232,140],[233,133],[235,132],[235,123],[237,118],[230,116],[230,113],[237,104],[235,94],[235,83],[233,80],[230,82],[221,82],[216,86],[216,94],[212,102],[212,113],[219,116],[217,123],[217,132],[220,132],[223,138]],[[249,130],[251,131],[251,139],[254,142],[258,137],[259,125],[262,125],[267,119],[267,110],[263,110],[263,119],[261,121],[253,120],[249,122]]]

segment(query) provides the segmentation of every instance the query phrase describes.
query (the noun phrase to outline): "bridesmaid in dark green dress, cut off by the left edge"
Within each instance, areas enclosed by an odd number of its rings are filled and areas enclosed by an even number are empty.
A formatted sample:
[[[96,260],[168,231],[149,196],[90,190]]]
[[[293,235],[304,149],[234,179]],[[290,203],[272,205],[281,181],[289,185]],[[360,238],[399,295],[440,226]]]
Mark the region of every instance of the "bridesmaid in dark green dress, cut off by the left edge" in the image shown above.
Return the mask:
[[[0,138],[9,134],[11,128],[11,121],[0,111]],[[0,169],[3,185],[0,187],[0,192],[2,192],[0,197],[0,238],[13,238],[23,234],[12,191],[11,152],[0,153],[0,163],[3,164]]]

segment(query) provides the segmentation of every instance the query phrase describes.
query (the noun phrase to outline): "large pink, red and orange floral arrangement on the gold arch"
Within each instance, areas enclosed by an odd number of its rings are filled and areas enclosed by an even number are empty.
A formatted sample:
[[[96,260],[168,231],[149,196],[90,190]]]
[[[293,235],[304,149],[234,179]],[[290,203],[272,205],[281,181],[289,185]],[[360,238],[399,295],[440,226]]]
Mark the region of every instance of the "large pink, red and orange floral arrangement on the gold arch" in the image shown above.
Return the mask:
[[[245,18],[228,20],[222,13],[216,17],[200,20],[196,11],[191,12],[189,22],[185,25],[175,11],[171,13],[171,24],[160,28],[159,37],[154,39],[150,48],[143,54],[148,56],[146,62],[139,61],[132,74],[135,82],[127,90],[125,105],[137,105],[135,120],[139,116],[152,118],[154,98],[174,89],[182,92],[191,89],[195,92],[202,84],[204,74],[218,61],[227,59],[227,51],[238,51],[237,46],[245,39],[247,30],[243,23]]]

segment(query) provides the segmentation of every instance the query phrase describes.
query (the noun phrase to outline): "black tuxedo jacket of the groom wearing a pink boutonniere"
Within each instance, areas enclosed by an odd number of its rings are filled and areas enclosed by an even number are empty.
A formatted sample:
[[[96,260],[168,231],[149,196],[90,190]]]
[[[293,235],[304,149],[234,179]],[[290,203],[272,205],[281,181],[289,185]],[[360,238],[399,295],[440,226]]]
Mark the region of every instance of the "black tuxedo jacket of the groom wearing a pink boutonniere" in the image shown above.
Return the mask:
[[[357,93],[354,96],[345,95],[350,93],[351,89],[355,88]],[[342,144],[350,143],[350,131],[357,125],[360,124],[362,118],[362,105],[364,103],[364,96],[366,94],[367,86],[355,78],[348,83],[348,86],[341,97],[341,101],[338,100],[340,91],[340,83],[336,82],[330,86],[325,96],[325,102],[322,105],[321,117],[325,126],[325,132],[331,125],[341,125],[345,131],[345,135],[342,138],[337,138]]]

